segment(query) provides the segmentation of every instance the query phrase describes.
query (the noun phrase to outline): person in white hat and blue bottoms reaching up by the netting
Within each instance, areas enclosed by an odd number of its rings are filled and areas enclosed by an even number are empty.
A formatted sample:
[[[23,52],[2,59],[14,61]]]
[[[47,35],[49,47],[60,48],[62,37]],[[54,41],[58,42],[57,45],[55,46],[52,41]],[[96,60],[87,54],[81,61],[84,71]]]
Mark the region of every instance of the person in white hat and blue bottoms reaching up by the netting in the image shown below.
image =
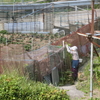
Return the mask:
[[[79,55],[78,55],[78,51],[77,51],[77,47],[73,46],[73,47],[69,47],[68,45],[66,45],[67,51],[69,53],[72,54],[72,77],[74,80],[77,79],[78,77],[78,66],[79,66]]]

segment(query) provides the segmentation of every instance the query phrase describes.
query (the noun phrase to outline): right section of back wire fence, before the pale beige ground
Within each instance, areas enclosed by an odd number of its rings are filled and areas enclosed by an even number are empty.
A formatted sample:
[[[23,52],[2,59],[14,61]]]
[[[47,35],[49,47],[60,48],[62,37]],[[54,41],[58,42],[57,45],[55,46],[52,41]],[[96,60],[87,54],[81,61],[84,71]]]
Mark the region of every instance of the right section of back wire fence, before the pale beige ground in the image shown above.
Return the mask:
[[[59,6],[62,6],[62,4],[59,4]],[[91,11],[89,9],[89,5],[71,6],[69,3],[64,8],[55,8],[55,25],[66,28],[71,28],[71,25],[76,26],[76,28],[86,25],[91,20]]]

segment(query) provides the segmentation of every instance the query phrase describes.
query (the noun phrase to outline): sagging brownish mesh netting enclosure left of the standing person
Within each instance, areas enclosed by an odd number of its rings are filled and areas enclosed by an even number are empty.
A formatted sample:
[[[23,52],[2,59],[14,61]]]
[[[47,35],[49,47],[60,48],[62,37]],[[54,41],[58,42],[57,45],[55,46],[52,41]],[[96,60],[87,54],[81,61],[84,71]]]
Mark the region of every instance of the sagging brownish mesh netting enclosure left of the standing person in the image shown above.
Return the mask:
[[[49,80],[57,85],[59,73],[70,69],[70,56],[62,46],[47,45],[36,51],[7,58],[3,56],[0,65],[3,71],[10,73],[17,69],[18,73],[36,81]],[[66,60],[67,59],[67,60]],[[55,70],[56,69],[56,70]],[[47,76],[52,76],[47,77]],[[58,76],[58,77],[57,77]],[[58,78],[58,79],[57,79]],[[46,81],[47,81],[46,80]]]

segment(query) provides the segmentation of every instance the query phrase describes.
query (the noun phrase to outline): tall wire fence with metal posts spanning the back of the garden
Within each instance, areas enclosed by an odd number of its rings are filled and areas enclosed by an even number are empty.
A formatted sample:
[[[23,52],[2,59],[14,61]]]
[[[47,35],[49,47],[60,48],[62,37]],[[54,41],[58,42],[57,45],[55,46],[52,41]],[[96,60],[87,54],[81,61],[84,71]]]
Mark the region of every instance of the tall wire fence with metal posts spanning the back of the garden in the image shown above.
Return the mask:
[[[97,5],[97,3],[95,4]],[[2,4],[0,9],[2,29],[12,33],[52,33],[55,28],[70,30],[72,33],[91,22],[90,1],[43,4],[13,3],[8,6]],[[96,13],[99,13],[99,10]]]

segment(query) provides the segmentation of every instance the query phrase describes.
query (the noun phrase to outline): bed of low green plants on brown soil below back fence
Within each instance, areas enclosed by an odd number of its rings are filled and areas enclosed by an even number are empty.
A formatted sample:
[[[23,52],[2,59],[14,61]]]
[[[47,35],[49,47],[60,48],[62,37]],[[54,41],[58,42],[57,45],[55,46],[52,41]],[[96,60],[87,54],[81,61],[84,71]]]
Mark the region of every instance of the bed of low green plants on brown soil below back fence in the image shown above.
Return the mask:
[[[50,41],[55,41],[58,38],[63,37],[61,34],[38,34],[38,33],[29,33],[29,34],[21,34],[21,33],[8,33],[6,30],[0,31],[0,44],[2,45],[10,45],[13,44],[25,44],[24,50],[30,51],[31,48],[33,50],[39,49],[44,45],[50,43]]]

